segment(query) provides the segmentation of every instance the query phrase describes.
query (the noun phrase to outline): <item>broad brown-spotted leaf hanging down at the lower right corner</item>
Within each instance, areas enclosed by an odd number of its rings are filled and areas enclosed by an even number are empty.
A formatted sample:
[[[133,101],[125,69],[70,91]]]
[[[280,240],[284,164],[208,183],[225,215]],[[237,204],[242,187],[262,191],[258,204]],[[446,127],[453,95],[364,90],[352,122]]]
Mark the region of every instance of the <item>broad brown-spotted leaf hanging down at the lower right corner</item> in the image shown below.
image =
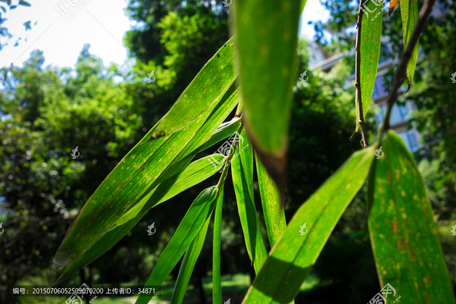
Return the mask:
[[[434,213],[415,161],[393,131],[382,148],[369,173],[367,198],[380,285],[393,286],[393,299],[454,304]]]

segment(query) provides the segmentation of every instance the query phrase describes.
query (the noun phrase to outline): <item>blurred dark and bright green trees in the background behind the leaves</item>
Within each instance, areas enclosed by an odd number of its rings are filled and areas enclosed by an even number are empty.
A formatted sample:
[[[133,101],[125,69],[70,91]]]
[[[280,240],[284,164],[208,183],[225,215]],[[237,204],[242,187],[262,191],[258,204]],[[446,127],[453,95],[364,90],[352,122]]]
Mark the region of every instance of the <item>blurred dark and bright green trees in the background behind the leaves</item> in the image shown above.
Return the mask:
[[[334,34],[352,25],[356,9],[348,1],[322,2],[326,22],[314,23],[319,48],[330,54],[350,50],[353,35]],[[0,3],[2,4],[2,3]],[[33,5],[29,8],[33,9]],[[132,64],[105,66],[80,51],[74,67],[44,66],[46,54],[31,53],[22,66],[3,67],[0,84],[0,301],[2,303],[63,303],[65,298],[6,298],[6,286],[47,285],[53,256],[79,210],[122,157],[167,112],[201,67],[229,39],[229,8],[204,1],[130,0],[126,13],[134,21],[124,38]],[[414,153],[432,202],[435,220],[453,284],[456,283],[456,5],[443,17],[431,17],[420,39],[421,55],[408,100],[417,106],[410,124],[420,131],[423,147]],[[400,13],[384,22],[392,53],[402,52]],[[385,17],[387,20],[388,17]],[[27,20],[23,20],[26,22]],[[2,27],[0,15],[0,27]],[[0,37],[5,36],[2,27]],[[33,29],[32,29],[33,30]],[[347,55],[329,72],[312,70],[315,57],[305,38],[299,40],[299,70],[309,80],[293,88],[294,100],[288,165],[287,221],[296,209],[344,161],[361,148],[355,126],[354,58]],[[0,50],[0,56],[2,51]],[[157,80],[145,78],[155,71]],[[275,71],[271,71],[272,74]],[[391,72],[392,73],[392,72]],[[388,81],[388,77],[385,78]],[[372,142],[374,112],[367,118]],[[227,119],[231,120],[234,113]],[[80,157],[70,157],[79,147]],[[196,158],[212,154],[203,151]],[[254,166],[255,167],[255,166]],[[256,173],[254,173],[256,176]],[[229,173],[228,179],[231,179]],[[254,177],[256,179],[256,177]],[[218,175],[158,205],[112,249],[63,284],[143,284],[172,237],[188,206]],[[255,205],[264,228],[258,183]],[[310,276],[296,297],[299,303],[365,303],[381,288],[367,230],[365,188],[336,225]],[[155,222],[157,233],[148,236]],[[211,223],[212,225],[212,223]],[[264,239],[267,234],[263,229]],[[209,228],[185,302],[209,302],[212,294],[212,230]],[[223,295],[240,303],[254,276],[245,249],[232,183],[224,189],[221,274]],[[269,245],[267,245],[269,246]],[[268,247],[268,250],[270,247]],[[162,286],[170,300],[179,264]],[[97,298],[97,303],[133,299]]]

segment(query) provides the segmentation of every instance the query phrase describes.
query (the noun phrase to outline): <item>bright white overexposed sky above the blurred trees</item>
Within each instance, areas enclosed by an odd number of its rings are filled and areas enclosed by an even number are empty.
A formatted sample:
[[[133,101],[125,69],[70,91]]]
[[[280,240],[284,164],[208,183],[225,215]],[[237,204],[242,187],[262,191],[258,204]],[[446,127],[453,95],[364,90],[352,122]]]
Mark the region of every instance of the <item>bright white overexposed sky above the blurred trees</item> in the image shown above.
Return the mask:
[[[9,67],[12,63],[22,66],[30,57],[30,52],[35,49],[44,51],[45,66],[51,64],[73,67],[86,43],[91,45],[90,52],[100,57],[104,65],[107,66],[110,62],[125,63],[127,50],[122,46],[123,36],[134,25],[124,13],[127,0],[83,0],[72,12],[84,2],[87,4],[70,21],[56,9],[62,4],[69,10],[66,1],[28,2],[31,7],[19,6],[5,15],[8,21],[4,25],[14,36],[0,51],[0,68]],[[66,14],[66,18],[70,14]],[[312,39],[314,29],[312,25],[308,25],[308,21],[325,21],[328,17],[329,13],[319,0],[309,0],[301,16],[299,35]],[[26,31],[22,23],[27,20],[31,20],[32,29]],[[19,37],[21,40],[18,46],[14,47]]]

